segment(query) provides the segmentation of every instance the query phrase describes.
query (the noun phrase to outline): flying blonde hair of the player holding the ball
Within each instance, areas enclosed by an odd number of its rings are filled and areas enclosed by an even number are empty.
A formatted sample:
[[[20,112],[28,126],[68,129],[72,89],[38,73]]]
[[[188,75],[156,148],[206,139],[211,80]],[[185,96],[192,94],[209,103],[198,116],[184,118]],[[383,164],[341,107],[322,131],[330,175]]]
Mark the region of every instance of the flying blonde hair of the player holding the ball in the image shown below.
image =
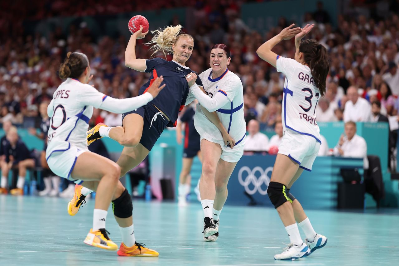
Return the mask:
[[[176,42],[180,39],[180,37],[190,38],[194,41],[194,38],[190,34],[180,34],[182,30],[182,25],[177,26],[166,26],[164,30],[159,28],[158,30],[151,31],[154,34],[151,41],[146,45],[151,46],[150,49],[154,50],[151,54],[153,56],[157,52],[162,50],[162,54],[165,56],[168,54],[173,54],[172,45],[176,44]]]

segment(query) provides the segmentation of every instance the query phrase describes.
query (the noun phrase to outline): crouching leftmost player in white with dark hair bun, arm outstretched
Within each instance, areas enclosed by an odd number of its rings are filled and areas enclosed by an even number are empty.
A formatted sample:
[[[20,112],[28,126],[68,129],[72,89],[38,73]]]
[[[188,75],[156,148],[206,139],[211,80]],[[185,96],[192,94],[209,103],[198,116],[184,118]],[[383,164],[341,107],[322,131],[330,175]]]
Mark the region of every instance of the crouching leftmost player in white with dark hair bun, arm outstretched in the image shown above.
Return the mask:
[[[129,213],[129,205],[126,204],[128,202],[126,193],[115,192],[116,187],[122,186],[119,181],[120,167],[113,161],[87,149],[86,131],[90,117],[93,115],[93,107],[113,113],[123,113],[139,108],[156,97],[165,87],[165,85],[160,86],[162,76],[158,77],[143,95],[114,99],[87,84],[93,77],[93,75],[90,76],[87,56],[69,52],[59,68],[59,77],[66,80],[55,90],[53,99],[47,107],[47,114],[51,120],[47,133],[46,161],[56,175],[68,180],[72,179],[77,184],[76,186],[85,182],[85,186],[97,190],[93,228],[90,229],[84,242],[106,250],[117,250],[118,246],[109,239],[105,229],[107,210],[112,200],[114,215],[122,232],[123,242],[118,254],[120,256],[158,256],[158,252],[144,248],[135,241],[131,232],[126,232],[126,226],[132,225],[132,214],[131,208]],[[129,195],[127,199],[130,200]],[[83,200],[84,198],[79,197],[77,202],[80,204]],[[74,215],[70,205],[68,212]]]

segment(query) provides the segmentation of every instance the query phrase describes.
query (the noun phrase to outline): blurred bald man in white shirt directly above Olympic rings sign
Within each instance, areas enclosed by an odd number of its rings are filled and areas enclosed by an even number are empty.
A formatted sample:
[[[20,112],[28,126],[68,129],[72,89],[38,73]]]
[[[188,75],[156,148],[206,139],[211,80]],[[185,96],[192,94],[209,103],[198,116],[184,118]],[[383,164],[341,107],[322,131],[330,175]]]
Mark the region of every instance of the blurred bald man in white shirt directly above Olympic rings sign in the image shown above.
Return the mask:
[[[259,122],[252,119],[248,122],[248,133],[244,145],[245,151],[267,151],[267,144],[269,143],[269,138],[259,132]]]

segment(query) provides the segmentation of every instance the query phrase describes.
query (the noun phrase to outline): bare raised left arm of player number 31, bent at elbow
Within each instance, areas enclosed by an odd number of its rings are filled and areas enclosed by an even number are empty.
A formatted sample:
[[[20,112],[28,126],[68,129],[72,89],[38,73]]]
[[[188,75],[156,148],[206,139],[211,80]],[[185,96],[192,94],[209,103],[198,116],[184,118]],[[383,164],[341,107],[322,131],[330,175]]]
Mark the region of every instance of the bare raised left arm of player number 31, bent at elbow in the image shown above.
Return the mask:
[[[284,28],[279,34],[262,44],[258,50],[256,50],[258,56],[272,66],[276,67],[277,54],[272,52],[272,49],[282,40],[289,40],[302,31],[300,27],[292,28],[293,26],[294,24],[291,24],[287,28]]]

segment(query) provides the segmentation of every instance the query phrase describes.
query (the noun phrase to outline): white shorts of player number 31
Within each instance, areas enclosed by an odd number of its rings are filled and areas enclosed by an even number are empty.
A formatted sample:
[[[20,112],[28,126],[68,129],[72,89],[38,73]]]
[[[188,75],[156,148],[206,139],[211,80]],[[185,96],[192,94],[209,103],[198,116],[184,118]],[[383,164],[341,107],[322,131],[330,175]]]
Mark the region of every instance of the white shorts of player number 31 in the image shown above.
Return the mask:
[[[320,145],[314,137],[286,129],[279,146],[279,153],[287,155],[292,161],[298,163],[300,168],[312,171]]]

